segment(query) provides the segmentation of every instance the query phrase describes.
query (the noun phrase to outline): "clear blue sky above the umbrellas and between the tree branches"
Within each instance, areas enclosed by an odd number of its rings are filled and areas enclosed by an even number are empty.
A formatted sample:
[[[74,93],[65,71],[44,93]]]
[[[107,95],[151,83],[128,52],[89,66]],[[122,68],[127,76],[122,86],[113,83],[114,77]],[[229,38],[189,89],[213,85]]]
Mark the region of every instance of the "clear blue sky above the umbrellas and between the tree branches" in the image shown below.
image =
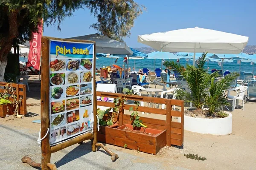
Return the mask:
[[[256,0],[135,0],[147,10],[137,18],[131,36],[124,40],[130,47],[145,47],[138,35],[182,28],[201,27],[249,37],[247,45],[256,45]],[[45,36],[67,38],[97,31],[89,28],[97,20],[85,8],[57,26],[44,27]]]

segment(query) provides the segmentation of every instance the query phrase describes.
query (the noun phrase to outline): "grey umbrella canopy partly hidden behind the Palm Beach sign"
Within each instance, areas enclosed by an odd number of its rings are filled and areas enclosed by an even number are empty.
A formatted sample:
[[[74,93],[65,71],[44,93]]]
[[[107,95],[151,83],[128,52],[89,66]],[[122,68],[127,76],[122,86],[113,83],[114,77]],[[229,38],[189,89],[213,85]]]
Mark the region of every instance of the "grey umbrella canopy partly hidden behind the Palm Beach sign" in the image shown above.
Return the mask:
[[[90,40],[96,42],[96,53],[131,55],[133,51],[124,43],[99,34],[89,34],[68,39]]]

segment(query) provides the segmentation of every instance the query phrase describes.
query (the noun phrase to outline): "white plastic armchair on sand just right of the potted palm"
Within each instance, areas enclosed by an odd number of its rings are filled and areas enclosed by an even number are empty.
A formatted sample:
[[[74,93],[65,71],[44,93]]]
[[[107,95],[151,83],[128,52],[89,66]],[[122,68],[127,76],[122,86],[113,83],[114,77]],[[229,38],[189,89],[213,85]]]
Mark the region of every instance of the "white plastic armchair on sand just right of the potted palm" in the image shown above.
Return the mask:
[[[232,111],[235,109],[235,106],[238,108],[239,106],[239,100],[242,100],[243,102],[243,111],[244,111],[244,94],[247,91],[247,86],[240,86],[233,89],[228,90],[227,92],[227,98],[232,99]],[[231,91],[236,91],[236,96],[230,95]]]

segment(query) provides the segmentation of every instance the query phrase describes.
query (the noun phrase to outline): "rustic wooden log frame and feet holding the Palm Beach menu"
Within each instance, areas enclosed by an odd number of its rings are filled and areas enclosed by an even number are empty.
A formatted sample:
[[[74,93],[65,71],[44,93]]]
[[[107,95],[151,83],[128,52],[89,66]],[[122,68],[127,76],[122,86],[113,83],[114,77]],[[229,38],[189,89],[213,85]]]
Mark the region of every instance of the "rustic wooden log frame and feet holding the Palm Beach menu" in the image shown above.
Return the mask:
[[[93,132],[83,133],[79,136],[75,136],[67,141],[57,143],[55,145],[50,145],[50,137],[49,132],[47,136],[44,138],[45,134],[47,133],[48,129],[50,129],[50,116],[49,116],[49,87],[50,87],[50,65],[49,65],[49,55],[50,55],[50,40],[56,40],[56,41],[68,41],[68,42],[78,42],[78,43],[93,43],[94,48],[94,58],[93,58],[93,68],[95,69],[95,60],[96,60],[96,42],[94,41],[87,41],[87,40],[72,40],[72,39],[60,39],[60,38],[53,38],[53,37],[42,37],[41,43],[42,43],[42,58],[41,58],[41,154],[42,154],[42,160],[40,163],[35,163],[35,161],[32,161],[29,157],[24,156],[21,160],[24,163],[28,163],[29,165],[33,167],[42,167],[42,170],[56,170],[55,164],[51,164],[51,153],[55,153],[59,150],[62,150],[66,147],[69,147],[73,144],[82,144],[84,140],[91,139],[92,141],[92,151],[95,152],[97,150],[97,147],[102,147],[106,152],[108,152],[111,155],[112,161],[115,161],[118,159],[118,155],[115,153],[112,153],[110,150],[108,150],[103,144],[97,143],[97,102],[96,102],[96,81],[95,81],[95,71],[92,71],[93,74]],[[79,128],[80,130],[80,128]],[[44,139],[43,139],[44,138]]]

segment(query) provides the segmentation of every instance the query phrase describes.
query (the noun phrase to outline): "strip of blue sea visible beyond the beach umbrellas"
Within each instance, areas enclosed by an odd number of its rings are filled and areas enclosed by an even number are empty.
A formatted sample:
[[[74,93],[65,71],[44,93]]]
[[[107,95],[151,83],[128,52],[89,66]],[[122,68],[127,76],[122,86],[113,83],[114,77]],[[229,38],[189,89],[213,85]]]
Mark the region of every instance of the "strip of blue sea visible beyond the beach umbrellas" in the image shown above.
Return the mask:
[[[120,67],[123,67],[124,62],[123,62],[123,58],[119,58],[117,59],[112,59],[112,58],[106,58],[106,57],[97,57],[99,59],[96,59],[96,68],[103,68],[103,66],[110,66],[113,64],[119,65]],[[167,59],[166,59],[167,60]],[[27,58],[25,57],[20,57],[20,61],[22,62],[26,62]],[[173,60],[176,62],[176,59]],[[116,63],[115,63],[116,62]],[[186,64],[193,64],[193,61],[189,61],[186,62],[185,59],[180,59],[180,64],[184,65],[184,67],[186,67]],[[131,71],[135,70],[135,71],[139,71],[139,69],[143,69],[143,68],[148,68],[148,70],[150,71],[154,71],[155,68],[165,68],[164,65],[162,66],[162,59],[130,59],[128,61],[128,65],[125,63],[125,68],[129,68],[131,67]],[[134,68],[134,69],[133,69]],[[211,69],[218,69],[221,70],[221,66],[218,65],[217,62],[206,62],[205,64],[205,68],[209,69],[209,72],[211,71]],[[239,72],[239,68],[240,71],[245,71],[245,72],[253,72],[253,74],[256,74],[256,68],[254,68],[254,64],[250,65],[249,63],[245,63],[245,62],[241,62],[241,66],[240,64],[237,64],[237,61],[234,60],[233,62],[224,62],[223,63],[223,71],[231,71],[231,72]]]

